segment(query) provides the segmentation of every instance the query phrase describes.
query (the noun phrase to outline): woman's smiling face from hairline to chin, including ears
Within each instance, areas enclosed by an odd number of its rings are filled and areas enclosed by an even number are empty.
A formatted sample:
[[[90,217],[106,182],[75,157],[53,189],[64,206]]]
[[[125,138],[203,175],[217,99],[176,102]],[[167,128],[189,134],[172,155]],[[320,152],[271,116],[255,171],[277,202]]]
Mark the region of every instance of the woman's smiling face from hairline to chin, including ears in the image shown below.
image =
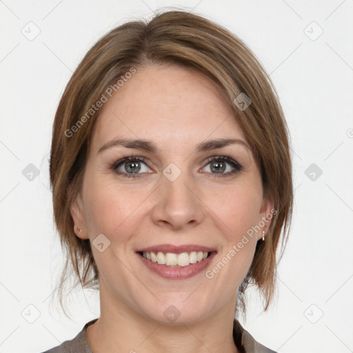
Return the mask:
[[[236,141],[209,143],[223,139]],[[72,216],[90,239],[101,299],[159,323],[234,312],[273,205],[212,81],[177,66],[137,70],[104,103],[91,142]],[[157,263],[138,253],[151,247]],[[197,261],[200,251],[210,257]]]

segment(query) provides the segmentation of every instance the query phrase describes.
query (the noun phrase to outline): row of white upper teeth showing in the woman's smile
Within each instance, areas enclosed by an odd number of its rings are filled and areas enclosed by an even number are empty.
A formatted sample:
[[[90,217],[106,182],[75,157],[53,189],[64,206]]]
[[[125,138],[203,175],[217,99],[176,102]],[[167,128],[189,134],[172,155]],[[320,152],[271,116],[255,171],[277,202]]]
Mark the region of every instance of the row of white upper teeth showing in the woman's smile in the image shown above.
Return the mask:
[[[174,254],[172,252],[143,252],[142,256],[152,262],[157,262],[160,265],[168,265],[172,267],[183,267],[188,266],[190,263],[200,262],[206,259],[208,252],[181,252],[181,254]]]

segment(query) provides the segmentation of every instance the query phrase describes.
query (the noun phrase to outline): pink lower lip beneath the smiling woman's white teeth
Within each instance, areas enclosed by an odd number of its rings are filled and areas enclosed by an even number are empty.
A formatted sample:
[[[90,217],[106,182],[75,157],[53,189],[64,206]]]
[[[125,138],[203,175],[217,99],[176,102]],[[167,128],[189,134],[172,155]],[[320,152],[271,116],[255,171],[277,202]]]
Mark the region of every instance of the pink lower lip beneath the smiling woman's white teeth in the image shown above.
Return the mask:
[[[181,268],[171,268],[167,265],[160,265],[157,262],[145,259],[141,254],[138,253],[137,256],[139,256],[147,268],[149,268],[154,273],[159,274],[159,276],[165,279],[189,279],[190,277],[195,276],[199,272],[205,270],[205,268],[210,265],[210,262],[214,256],[216,256],[216,252],[212,252],[207,259],[196,263],[190,263],[190,265],[183,266]]]

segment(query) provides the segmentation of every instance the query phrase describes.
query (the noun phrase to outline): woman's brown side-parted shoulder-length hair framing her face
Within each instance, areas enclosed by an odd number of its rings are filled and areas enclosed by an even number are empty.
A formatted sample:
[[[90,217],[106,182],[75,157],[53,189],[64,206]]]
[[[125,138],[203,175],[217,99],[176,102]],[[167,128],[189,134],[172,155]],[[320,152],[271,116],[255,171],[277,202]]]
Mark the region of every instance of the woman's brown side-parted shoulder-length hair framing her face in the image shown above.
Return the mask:
[[[81,191],[90,138],[99,117],[100,110],[92,106],[110,87],[119,89],[117,82],[127,72],[148,64],[183,65],[201,72],[219,87],[234,110],[259,166],[264,197],[272,199],[276,209],[266,240],[256,244],[250,270],[239,286],[237,307],[245,315],[245,290],[256,284],[266,311],[276,285],[276,250],[281,239],[280,260],[292,217],[288,127],[270,77],[243,41],[216,23],[181,10],[161,12],[148,22],[130,21],[105,34],[85,55],[63,92],[50,155],[54,220],[67,252],[59,282],[61,307],[69,267],[83,288],[92,288],[99,280],[90,241],[74,234],[70,213]],[[237,103],[239,94],[250,97],[248,108]]]

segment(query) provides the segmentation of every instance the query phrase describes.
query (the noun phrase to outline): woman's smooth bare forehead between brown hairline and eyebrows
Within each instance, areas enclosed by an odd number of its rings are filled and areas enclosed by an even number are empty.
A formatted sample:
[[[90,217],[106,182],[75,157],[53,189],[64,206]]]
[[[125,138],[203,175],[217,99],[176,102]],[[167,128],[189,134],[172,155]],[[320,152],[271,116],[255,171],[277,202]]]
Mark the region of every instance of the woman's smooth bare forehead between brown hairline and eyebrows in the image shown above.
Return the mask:
[[[192,69],[139,68],[103,105],[92,145],[117,137],[200,142],[208,137],[244,139],[219,88]]]

